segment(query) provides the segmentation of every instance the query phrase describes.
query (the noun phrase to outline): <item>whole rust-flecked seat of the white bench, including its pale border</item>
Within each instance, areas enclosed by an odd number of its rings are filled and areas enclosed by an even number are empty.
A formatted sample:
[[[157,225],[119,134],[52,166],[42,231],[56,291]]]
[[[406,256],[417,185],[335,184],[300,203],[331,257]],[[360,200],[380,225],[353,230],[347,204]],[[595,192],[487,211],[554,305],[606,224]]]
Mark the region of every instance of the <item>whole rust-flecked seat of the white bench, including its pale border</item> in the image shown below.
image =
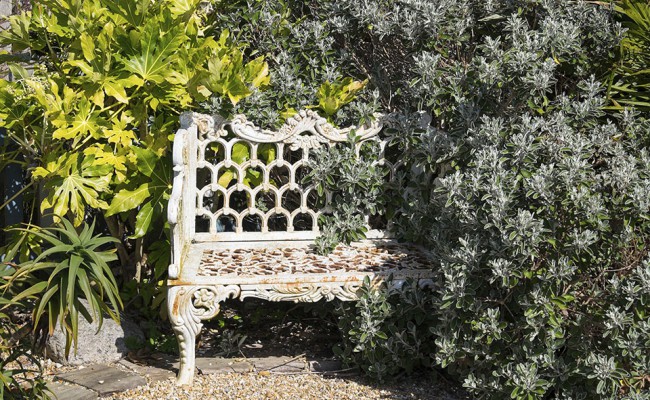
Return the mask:
[[[394,241],[339,245],[319,255],[307,243],[194,243],[173,285],[288,284],[363,282],[392,276],[399,281],[430,276],[431,255],[424,249]]]

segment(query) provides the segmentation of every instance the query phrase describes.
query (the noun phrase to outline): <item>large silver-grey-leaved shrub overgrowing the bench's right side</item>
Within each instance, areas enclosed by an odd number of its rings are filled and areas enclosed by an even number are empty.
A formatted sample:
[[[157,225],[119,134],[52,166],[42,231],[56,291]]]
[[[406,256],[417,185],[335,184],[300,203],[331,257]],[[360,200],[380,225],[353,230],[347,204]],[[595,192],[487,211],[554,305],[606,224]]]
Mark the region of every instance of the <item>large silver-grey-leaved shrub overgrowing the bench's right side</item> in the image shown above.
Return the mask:
[[[443,367],[477,398],[647,398],[650,123],[604,111],[625,35],[606,2],[219,4],[275,82],[236,111],[277,126],[350,76],[368,84],[335,122],[391,115],[385,215],[437,256],[435,287],[362,292],[342,356]]]

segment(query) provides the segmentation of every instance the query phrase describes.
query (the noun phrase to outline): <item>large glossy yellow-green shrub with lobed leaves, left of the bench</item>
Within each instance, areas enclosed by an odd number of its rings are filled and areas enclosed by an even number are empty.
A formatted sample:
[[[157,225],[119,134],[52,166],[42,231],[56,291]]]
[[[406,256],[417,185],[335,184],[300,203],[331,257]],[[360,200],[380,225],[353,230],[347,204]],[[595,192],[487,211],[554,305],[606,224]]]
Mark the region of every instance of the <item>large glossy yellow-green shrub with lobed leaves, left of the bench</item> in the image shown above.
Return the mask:
[[[199,3],[35,0],[0,33],[12,49],[1,56],[12,80],[0,80],[0,127],[19,149],[0,167],[22,164],[55,221],[102,213],[123,265],[140,264],[143,237],[164,231],[179,112],[212,96],[235,104],[269,81],[263,58],[244,62]]]

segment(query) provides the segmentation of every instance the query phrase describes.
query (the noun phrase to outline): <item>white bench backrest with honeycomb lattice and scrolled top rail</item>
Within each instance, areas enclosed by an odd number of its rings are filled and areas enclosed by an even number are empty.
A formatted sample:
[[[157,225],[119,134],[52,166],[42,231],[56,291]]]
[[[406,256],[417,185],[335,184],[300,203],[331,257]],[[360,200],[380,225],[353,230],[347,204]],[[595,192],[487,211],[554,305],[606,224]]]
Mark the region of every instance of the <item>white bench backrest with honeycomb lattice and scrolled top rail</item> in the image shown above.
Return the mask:
[[[336,129],[315,112],[301,111],[278,131],[255,127],[243,116],[225,121],[201,114],[184,115],[198,126],[191,156],[196,157],[195,240],[314,239],[318,217],[332,196],[319,196],[303,182],[307,163],[321,146],[344,142],[351,129],[361,143],[377,141],[379,163],[386,142],[381,125]]]

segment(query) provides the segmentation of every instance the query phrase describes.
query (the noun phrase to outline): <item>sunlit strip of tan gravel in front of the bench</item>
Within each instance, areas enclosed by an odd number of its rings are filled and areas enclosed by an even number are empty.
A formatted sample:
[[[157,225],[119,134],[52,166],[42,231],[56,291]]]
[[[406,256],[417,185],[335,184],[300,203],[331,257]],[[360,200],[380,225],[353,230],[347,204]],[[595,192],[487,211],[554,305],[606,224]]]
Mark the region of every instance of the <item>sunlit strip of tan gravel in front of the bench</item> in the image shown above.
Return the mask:
[[[309,375],[218,374],[197,375],[191,386],[177,387],[172,380],[122,392],[110,399],[203,400],[203,399],[424,399],[456,400],[427,378],[409,378],[387,385],[359,377],[330,378]]]

